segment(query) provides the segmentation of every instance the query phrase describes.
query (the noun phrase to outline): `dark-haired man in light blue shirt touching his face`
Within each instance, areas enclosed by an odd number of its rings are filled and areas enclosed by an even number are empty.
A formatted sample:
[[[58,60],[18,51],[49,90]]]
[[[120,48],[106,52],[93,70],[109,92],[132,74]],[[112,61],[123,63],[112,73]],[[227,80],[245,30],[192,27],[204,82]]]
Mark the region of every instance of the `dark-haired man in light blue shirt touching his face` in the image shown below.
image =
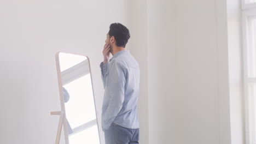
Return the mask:
[[[133,144],[139,140],[139,65],[130,51],[125,50],[129,38],[125,26],[112,23],[102,51],[104,61],[100,67],[105,89],[102,130],[106,144]]]

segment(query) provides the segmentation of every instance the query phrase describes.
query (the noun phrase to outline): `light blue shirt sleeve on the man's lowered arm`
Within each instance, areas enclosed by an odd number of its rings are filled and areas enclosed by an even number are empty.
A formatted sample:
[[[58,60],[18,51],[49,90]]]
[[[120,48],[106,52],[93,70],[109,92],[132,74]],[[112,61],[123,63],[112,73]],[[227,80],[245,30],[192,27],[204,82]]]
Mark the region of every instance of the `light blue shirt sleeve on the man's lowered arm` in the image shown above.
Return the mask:
[[[109,105],[102,117],[103,129],[108,129],[123,107],[125,96],[125,69],[118,62],[109,67]]]

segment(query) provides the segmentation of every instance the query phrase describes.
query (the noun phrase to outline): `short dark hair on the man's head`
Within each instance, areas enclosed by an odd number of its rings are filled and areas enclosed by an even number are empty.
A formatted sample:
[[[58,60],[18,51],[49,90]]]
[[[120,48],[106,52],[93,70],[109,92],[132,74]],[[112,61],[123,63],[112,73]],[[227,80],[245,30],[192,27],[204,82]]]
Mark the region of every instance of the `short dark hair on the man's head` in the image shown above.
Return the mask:
[[[127,29],[124,25],[121,23],[112,23],[109,26],[109,38],[114,36],[116,45],[125,47],[127,44],[129,38],[130,38],[130,32],[129,29]]]

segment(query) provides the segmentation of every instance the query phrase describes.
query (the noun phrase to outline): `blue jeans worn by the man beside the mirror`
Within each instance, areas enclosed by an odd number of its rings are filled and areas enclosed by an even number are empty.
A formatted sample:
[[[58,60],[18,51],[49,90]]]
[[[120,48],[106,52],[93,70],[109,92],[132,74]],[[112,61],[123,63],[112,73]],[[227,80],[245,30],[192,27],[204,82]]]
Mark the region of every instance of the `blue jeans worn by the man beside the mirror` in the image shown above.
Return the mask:
[[[104,130],[105,144],[135,144],[139,141],[139,129],[129,129],[112,123]]]

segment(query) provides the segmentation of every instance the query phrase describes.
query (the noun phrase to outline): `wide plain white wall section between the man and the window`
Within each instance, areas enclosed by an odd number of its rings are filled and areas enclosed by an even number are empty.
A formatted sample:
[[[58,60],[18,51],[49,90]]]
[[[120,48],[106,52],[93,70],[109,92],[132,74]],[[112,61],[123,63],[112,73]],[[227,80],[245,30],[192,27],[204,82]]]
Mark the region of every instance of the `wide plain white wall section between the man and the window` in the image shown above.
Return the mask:
[[[149,143],[231,143],[226,1],[147,1]]]

